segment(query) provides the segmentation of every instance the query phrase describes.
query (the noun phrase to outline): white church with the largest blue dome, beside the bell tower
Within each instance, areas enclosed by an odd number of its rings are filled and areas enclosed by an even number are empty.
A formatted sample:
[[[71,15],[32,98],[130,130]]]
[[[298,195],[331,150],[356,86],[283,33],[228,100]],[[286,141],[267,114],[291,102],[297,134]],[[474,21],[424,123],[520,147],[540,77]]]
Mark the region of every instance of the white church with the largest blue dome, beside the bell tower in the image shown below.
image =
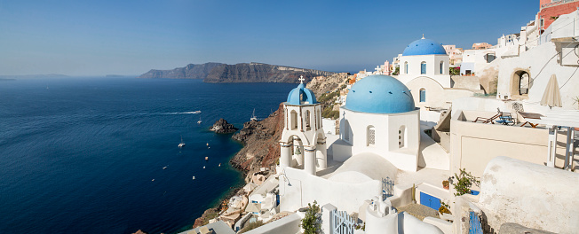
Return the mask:
[[[356,82],[340,107],[341,141],[334,147],[334,160],[372,152],[396,168],[416,171],[418,113],[410,90],[393,77],[371,75]]]

